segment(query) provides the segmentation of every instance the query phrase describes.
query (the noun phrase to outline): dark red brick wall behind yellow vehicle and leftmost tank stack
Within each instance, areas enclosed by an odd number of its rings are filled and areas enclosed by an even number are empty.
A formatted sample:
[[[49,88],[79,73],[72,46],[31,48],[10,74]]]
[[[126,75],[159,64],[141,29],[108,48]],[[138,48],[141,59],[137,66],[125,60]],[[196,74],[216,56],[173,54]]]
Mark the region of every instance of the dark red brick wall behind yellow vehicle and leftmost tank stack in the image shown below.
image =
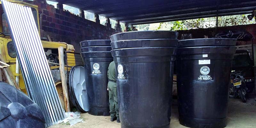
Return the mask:
[[[62,9],[56,9],[45,0],[24,0],[24,2],[38,6],[41,37],[50,35],[52,41],[72,44],[76,52],[80,52],[80,41],[110,39],[109,36],[121,32],[120,29],[113,29]]]

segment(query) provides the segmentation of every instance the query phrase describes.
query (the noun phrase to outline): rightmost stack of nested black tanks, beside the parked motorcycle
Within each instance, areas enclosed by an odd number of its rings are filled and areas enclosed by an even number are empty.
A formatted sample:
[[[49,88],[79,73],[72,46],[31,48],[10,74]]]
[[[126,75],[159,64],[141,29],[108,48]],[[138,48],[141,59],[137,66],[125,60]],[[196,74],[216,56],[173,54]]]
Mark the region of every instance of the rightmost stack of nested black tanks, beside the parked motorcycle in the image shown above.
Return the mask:
[[[189,39],[178,45],[180,124],[192,128],[225,127],[236,39]]]

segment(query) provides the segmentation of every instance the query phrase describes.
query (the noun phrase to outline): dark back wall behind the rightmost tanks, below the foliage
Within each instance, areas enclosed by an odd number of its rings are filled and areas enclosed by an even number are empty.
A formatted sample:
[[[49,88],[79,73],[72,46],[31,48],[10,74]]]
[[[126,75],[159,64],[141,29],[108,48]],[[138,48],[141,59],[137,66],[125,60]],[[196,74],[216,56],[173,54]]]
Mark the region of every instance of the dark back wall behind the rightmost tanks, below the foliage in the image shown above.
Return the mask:
[[[219,27],[218,32],[225,31],[225,30],[245,30],[252,34],[253,42],[256,44],[256,24],[249,24],[249,25],[236,25],[236,26],[227,26],[227,27]],[[208,38],[211,38],[215,35],[215,28],[201,28],[201,29],[191,29],[191,30],[180,30],[178,39],[181,39],[182,34],[192,34],[192,38],[204,38],[204,36],[208,36]],[[244,45],[247,42],[244,41],[238,41],[236,45]],[[248,42],[251,43],[251,42]]]

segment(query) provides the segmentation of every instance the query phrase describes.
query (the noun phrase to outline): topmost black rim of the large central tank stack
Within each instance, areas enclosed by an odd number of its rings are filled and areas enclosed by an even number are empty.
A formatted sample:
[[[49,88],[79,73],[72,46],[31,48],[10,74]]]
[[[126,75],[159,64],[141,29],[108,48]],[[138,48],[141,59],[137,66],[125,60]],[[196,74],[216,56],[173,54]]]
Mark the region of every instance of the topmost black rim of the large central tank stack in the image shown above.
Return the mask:
[[[132,31],[114,34],[110,39],[112,42],[132,39],[177,39],[178,35],[175,31]]]

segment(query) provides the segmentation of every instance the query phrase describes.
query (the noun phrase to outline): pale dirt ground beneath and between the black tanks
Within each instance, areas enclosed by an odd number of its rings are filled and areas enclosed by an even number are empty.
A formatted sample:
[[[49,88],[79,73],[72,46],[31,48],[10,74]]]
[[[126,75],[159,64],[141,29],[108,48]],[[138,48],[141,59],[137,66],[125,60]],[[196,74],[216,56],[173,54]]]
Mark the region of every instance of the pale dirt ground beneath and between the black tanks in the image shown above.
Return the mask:
[[[240,99],[229,98],[228,125],[226,128],[256,128],[256,101],[251,94],[249,100],[243,103]],[[110,122],[110,116],[92,116],[81,113],[84,122],[75,124],[72,128],[120,128],[120,123]],[[70,128],[69,124],[61,123],[50,128]],[[172,103],[172,116],[170,128],[188,128],[179,124],[177,99]]]

